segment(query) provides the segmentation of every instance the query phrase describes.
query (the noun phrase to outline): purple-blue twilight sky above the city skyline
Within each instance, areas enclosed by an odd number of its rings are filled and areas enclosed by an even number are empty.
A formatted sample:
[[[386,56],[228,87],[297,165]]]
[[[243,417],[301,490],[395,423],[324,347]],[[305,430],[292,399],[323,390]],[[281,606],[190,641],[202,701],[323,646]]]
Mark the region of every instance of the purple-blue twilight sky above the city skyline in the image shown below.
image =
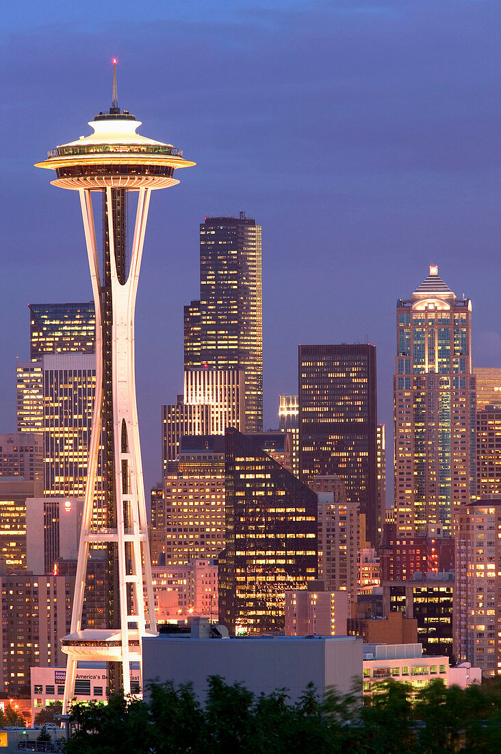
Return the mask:
[[[182,392],[198,224],[263,226],[264,424],[297,390],[298,343],[377,345],[392,419],[395,305],[428,265],[473,302],[477,366],[501,366],[501,3],[25,0],[2,8],[0,432],[15,429],[29,302],[90,300],[75,192],[33,163],[118,100],[197,167],[154,192],[136,311],[148,488],[160,405]],[[391,466],[391,458],[389,459]],[[389,485],[391,487],[391,483]]]

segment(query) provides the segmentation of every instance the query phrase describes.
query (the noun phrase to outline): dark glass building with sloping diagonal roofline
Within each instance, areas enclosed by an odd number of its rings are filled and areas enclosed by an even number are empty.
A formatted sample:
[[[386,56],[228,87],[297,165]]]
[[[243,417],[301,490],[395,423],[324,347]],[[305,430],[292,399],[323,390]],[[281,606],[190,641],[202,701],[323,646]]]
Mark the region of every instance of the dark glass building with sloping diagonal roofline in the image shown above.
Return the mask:
[[[281,631],[285,591],[316,578],[316,494],[236,429],[225,440],[219,621],[230,633]]]

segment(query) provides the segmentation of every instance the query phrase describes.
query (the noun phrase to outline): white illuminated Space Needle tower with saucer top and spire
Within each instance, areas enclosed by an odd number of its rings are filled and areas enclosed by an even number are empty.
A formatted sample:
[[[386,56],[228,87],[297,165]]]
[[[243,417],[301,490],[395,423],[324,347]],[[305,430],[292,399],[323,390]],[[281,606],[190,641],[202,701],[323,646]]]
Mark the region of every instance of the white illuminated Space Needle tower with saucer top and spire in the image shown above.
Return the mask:
[[[63,712],[75,694],[77,663],[106,661],[108,686],[130,694],[130,663],[142,661],[142,637],[156,633],[134,362],[134,311],[151,191],[179,183],[174,170],[194,162],[145,136],[141,121],[118,107],[116,60],[112,107],[96,115],[90,136],[47,155],[35,167],[56,170],[53,185],[78,191],[96,306],[96,397],[87,467]],[[102,267],[92,192],[102,195]],[[127,247],[127,204],[137,197]],[[99,465],[99,483],[98,483]],[[108,628],[81,628],[90,549],[108,553]],[[144,587],[143,587],[144,583]]]

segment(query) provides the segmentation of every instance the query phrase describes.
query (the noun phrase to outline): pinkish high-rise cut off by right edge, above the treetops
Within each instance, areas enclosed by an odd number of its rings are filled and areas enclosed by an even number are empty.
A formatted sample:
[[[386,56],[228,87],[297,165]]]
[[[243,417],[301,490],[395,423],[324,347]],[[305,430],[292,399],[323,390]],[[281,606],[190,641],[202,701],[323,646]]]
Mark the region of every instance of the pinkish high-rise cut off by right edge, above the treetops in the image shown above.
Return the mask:
[[[501,498],[484,498],[454,510],[456,582],[454,653],[501,676]]]

